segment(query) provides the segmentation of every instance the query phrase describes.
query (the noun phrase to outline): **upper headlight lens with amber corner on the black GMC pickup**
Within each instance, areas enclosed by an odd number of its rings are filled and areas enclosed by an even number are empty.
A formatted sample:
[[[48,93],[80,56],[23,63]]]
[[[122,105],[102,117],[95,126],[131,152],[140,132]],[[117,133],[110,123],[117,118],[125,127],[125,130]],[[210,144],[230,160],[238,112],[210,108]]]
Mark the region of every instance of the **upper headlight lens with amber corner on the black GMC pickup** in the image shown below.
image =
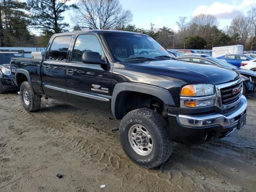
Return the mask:
[[[182,87],[180,96],[206,96],[214,94],[212,84],[194,84]]]

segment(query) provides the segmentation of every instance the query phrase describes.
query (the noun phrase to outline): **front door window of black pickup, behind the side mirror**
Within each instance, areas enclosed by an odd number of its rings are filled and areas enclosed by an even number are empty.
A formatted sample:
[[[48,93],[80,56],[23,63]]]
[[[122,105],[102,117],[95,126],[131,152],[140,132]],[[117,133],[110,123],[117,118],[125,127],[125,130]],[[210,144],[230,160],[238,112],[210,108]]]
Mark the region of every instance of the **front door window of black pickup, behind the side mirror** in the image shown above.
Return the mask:
[[[87,51],[98,52],[102,55],[100,42],[95,35],[79,35],[76,39],[71,61],[81,62],[82,54]]]

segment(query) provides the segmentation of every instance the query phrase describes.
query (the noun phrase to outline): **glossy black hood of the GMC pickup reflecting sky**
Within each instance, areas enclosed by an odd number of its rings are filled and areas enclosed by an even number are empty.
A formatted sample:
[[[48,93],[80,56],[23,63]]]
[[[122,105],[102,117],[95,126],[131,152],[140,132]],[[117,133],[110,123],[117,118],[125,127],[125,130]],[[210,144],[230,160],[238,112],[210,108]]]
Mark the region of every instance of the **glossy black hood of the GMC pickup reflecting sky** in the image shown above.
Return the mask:
[[[222,84],[239,78],[234,70],[213,65],[189,63],[178,60],[159,60],[144,63],[126,63],[130,70],[140,70],[180,79],[186,83]]]

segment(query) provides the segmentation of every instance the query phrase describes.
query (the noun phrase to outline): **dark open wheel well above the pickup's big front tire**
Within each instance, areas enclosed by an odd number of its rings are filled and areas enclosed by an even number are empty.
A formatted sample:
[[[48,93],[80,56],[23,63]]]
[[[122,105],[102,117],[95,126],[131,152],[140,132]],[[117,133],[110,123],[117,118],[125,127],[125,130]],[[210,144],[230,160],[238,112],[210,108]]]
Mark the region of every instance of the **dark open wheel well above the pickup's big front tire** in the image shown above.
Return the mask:
[[[122,91],[116,98],[115,116],[117,119],[122,119],[128,112],[143,107],[156,110],[160,114],[164,111],[164,103],[155,96],[133,91]]]

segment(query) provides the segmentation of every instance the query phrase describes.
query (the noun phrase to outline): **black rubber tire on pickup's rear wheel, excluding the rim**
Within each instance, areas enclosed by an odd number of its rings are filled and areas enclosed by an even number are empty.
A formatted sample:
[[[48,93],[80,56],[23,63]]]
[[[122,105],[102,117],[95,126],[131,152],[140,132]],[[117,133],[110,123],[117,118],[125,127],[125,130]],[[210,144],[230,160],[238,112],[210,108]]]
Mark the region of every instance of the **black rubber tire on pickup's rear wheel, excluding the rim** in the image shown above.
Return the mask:
[[[28,91],[29,104],[26,104],[25,101],[24,101],[24,96],[23,96],[24,89],[26,89]],[[23,107],[28,112],[33,112],[33,111],[39,110],[40,105],[41,105],[41,96],[34,94],[30,84],[27,81],[23,82],[20,85],[20,100],[22,102]]]

